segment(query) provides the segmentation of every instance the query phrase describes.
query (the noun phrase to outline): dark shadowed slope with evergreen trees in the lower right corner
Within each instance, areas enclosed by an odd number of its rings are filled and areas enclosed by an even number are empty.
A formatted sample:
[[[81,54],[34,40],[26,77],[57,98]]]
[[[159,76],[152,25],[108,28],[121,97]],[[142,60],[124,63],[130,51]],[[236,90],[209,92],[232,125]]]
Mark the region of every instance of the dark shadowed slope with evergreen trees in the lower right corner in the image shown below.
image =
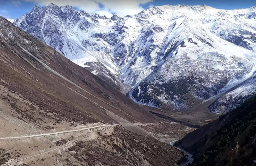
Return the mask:
[[[255,165],[255,96],[176,143],[194,153],[190,165]]]

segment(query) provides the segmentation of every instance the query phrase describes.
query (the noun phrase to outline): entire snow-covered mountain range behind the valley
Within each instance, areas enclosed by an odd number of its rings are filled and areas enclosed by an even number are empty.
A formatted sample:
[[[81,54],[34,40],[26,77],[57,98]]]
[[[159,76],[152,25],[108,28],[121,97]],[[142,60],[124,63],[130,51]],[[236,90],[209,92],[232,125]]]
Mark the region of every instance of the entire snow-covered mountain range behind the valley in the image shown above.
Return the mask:
[[[109,80],[132,87],[127,95],[137,103],[188,109],[222,92],[255,92],[245,86],[256,69],[255,13],[256,7],[164,5],[107,18],[51,4],[14,24],[95,74],[104,66]]]

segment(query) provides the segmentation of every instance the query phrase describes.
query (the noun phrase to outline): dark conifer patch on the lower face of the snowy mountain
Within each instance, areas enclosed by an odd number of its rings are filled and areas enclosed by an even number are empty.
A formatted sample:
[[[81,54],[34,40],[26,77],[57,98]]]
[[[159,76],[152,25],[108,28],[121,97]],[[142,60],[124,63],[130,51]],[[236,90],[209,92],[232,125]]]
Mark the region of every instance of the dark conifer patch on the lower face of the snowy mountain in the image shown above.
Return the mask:
[[[198,86],[198,82],[204,82],[204,80],[196,75],[186,76],[179,80],[169,80],[168,82],[163,82],[161,84],[148,84],[146,81],[143,81],[139,85],[140,91],[147,93],[139,93],[139,89],[137,87],[133,90],[132,96],[137,101],[142,100],[144,103],[151,103],[157,107],[164,107],[165,109],[173,108],[168,101],[176,98],[180,98],[182,102],[192,107],[200,103],[200,100],[195,99],[193,95],[191,95],[192,93],[195,93],[192,89],[193,87]],[[149,89],[150,91],[148,91]],[[165,93],[164,100],[166,100],[167,103],[163,103],[157,98],[163,93]],[[201,96],[204,95],[206,94],[201,94]]]

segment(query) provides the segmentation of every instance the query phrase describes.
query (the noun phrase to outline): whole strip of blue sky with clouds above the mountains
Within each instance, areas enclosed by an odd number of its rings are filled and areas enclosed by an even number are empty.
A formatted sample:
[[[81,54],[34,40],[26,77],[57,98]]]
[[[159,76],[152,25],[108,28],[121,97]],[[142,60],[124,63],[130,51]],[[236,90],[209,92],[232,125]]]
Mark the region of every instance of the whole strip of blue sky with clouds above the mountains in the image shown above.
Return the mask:
[[[50,3],[59,6],[70,5],[77,9],[83,9],[90,13],[98,13],[100,15],[110,15],[111,13],[118,13],[122,15],[133,15],[139,11],[148,8],[149,6],[159,5],[208,5],[218,9],[234,9],[234,8],[248,8],[256,6],[255,0],[0,0],[0,15],[5,18],[16,19],[28,13],[34,5],[45,6]],[[99,6],[99,4],[103,4]]]

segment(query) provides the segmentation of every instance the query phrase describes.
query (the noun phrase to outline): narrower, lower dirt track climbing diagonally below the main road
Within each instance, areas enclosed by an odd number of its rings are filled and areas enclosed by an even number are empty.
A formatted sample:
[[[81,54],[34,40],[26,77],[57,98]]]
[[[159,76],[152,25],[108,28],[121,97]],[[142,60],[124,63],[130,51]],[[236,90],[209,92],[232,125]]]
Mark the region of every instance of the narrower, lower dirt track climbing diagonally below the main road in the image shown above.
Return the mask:
[[[107,127],[104,128],[102,131],[105,131],[106,129],[108,129],[108,128],[110,127],[110,125],[106,125],[106,126],[107,126]],[[102,132],[102,131],[101,131],[101,132]],[[37,154],[37,155],[29,156],[29,157],[26,157],[26,158],[23,158],[23,159],[20,159],[20,160],[16,160],[16,161],[13,161],[13,162],[11,162],[11,163],[4,164],[3,166],[13,165],[13,164],[15,164],[15,163],[17,163],[17,162],[20,162],[20,161],[23,161],[23,160],[26,160],[26,159],[29,159],[29,158],[32,158],[32,157],[36,157],[36,156],[39,156],[39,155],[43,155],[43,154],[45,154],[45,153],[49,153],[49,152],[52,152],[52,151],[61,149],[61,148],[65,148],[65,147],[67,147],[67,146],[70,146],[70,145],[74,144],[75,142],[79,141],[80,139],[84,139],[84,138],[87,138],[87,137],[91,136],[92,133],[93,133],[93,132],[91,132],[91,133],[88,134],[87,136],[84,136],[84,137],[75,139],[75,140],[71,141],[70,143],[68,143],[68,144],[66,144],[66,145],[63,145],[63,146],[61,146],[61,147],[58,147],[58,148],[55,148],[55,149],[52,149],[52,150],[49,150],[49,151],[46,151],[46,152],[42,152],[42,153],[39,153],[39,154]]]

